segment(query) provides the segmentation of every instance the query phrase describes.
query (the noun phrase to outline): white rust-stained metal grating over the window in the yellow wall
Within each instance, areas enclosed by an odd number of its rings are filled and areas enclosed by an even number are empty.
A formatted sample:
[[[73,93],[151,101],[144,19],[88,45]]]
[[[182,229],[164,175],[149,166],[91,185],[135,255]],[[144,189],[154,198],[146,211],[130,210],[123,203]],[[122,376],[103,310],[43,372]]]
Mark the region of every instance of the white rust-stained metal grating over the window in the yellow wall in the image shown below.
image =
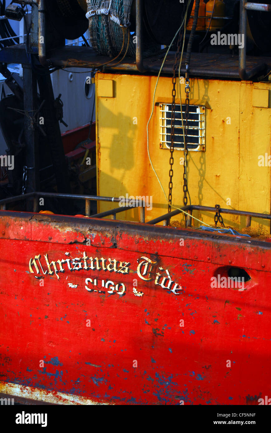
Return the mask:
[[[171,104],[159,104],[160,107],[160,148],[170,149],[171,143]],[[184,134],[181,120],[181,107],[185,124],[185,104],[175,107],[174,149],[184,150]],[[205,151],[205,107],[190,105],[188,114],[187,149]]]

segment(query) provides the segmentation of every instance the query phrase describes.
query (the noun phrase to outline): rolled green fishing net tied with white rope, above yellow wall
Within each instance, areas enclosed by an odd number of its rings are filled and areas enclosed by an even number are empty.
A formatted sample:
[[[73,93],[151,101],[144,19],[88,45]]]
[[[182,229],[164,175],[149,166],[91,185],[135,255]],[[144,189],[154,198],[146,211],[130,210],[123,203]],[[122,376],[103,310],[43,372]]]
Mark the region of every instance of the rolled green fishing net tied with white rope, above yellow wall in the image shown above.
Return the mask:
[[[90,42],[100,55],[129,57],[136,55],[136,36],[130,35],[130,16],[133,0],[87,0]],[[145,55],[158,51],[160,46],[148,43]]]

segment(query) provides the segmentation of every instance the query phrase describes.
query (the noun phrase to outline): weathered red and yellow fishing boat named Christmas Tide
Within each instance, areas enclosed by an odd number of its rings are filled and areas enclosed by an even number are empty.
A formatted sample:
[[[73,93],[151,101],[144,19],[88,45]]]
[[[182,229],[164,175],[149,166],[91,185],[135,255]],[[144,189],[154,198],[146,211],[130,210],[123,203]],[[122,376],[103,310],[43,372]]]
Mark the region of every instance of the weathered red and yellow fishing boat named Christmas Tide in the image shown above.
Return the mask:
[[[0,51],[2,74],[23,66],[6,126],[23,152],[0,200],[1,396],[266,404],[271,5],[13,3],[31,31]],[[50,74],[67,68],[91,71],[96,134],[65,150]]]

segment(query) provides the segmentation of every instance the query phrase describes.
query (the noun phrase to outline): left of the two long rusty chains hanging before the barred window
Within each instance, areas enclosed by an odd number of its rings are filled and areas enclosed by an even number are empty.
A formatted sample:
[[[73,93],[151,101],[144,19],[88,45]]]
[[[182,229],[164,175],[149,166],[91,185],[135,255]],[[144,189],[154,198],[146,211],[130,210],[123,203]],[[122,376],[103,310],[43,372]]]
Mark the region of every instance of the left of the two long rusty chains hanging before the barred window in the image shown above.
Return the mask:
[[[174,62],[174,66],[173,66],[173,77],[172,77],[172,106],[171,106],[171,132],[170,132],[170,138],[171,138],[171,142],[170,142],[170,159],[169,159],[169,164],[170,164],[170,169],[169,169],[169,183],[168,183],[168,212],[171,212],[171,204],[172,204],[172,177],[173,177],[173,163],[174,163],[174,158],[173,158],[173,152],[174,152],[174,124],[175,124],[175,107],[176,107],[176,103],[175,103],[175,98],[176,98],[176,83],[177,83],[177,68],[178,68],[178,58],[179,58],[179,54],[180,54],[180,49],[181,49],[181,39],[182,39],[182,33],[181,33],[181,29],[179,32],[179,36],[178,36],[178,41],[177,41],[177,51],[175,52],[175,62]]]

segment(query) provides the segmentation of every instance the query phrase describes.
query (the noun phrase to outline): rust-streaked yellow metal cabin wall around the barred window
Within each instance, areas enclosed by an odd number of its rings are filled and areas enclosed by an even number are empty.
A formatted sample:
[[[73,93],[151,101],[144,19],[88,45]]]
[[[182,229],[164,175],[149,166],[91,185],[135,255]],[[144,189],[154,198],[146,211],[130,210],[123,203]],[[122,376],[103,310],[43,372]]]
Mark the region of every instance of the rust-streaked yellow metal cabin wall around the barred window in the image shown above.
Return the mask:
[[[125,74],[96,75],[97,194],[152,196],[153,209],[146,210],[146,220],[168,209],[147,154],[146,125],[156,79]],[[190,103],[206,107],[206,151],[189,152],[188,156],[192,204],[220,204],[224,208],[270,213],[271,168],[258,165],[259,155],[271,154],[270,95],[268,108],[268,92],[255,92],[269,90],[270,85],[191,79],[190,89]],[[159,148],[158,103],[171,103],[171,90],[171,78],[160,78],[149,125],[150,155],[167,196],[170,152]],[[184,103],[184,84],[181,84],[181,96]],[[179,89],[177,98],[176,102],[180,103]],[[176,206],[183,204],[182,156],[182,151],[174,151],[173,204]],[[113,207],[116,204],[102,203],[99,211]],[[194,216],[213,223],[213,213],[194,212]],[[118,214],[117,218],[139,220],[139,213],[132,209]],[[225,215],[224,222],[244,226],[245,218]],[[269,223],[264,224],[269,229]]]

